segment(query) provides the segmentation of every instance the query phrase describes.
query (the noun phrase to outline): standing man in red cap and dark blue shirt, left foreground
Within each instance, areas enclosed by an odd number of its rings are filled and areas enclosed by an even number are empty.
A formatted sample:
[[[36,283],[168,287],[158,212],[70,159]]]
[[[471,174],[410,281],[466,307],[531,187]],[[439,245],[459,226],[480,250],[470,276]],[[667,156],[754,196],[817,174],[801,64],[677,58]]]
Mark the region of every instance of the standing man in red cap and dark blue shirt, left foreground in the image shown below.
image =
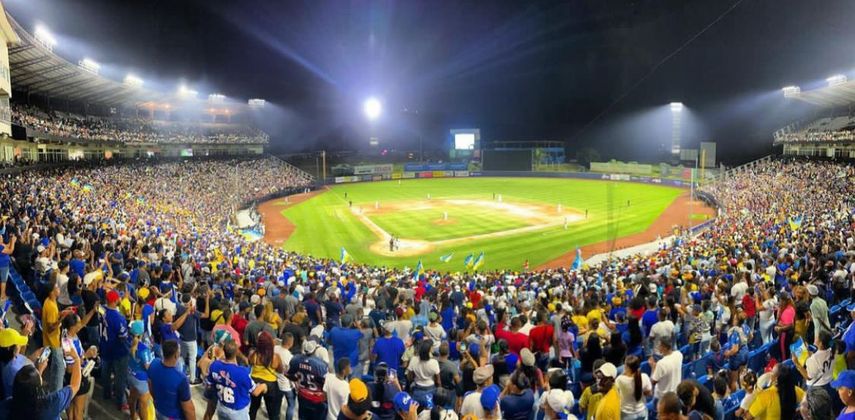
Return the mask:
[[[110,399],[115,386],[117,402],[125,411],[127,407],[128,354],[128,321],[118,310],[119,293],[115,290],[107,292],[107,309],[101,321],[101,384],[104,387],[104,399]],[[112,376],[112,378],[111,378]]]

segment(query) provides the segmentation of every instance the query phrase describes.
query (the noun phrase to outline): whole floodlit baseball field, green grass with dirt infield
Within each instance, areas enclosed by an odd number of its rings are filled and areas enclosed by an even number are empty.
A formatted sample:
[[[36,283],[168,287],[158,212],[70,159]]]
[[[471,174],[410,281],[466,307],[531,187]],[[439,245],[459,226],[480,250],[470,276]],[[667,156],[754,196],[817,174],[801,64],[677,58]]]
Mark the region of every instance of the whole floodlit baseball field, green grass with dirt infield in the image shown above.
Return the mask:
[[[610,181],[418,179],[336,185],[259,211],[266,241],[317,257],[338,260],[344,247],[357,263],[414,267],[421,260],[426,268],[462,271],[468,255],[483,252],[481,270],[519,270],[526,260],[531,268],[564,259],[569,265],[576,247],[614,246],[654,222],[668,226],[659,233],[665,236],[673,224],[688,223],[689,214],[661,220],[686,193]]]

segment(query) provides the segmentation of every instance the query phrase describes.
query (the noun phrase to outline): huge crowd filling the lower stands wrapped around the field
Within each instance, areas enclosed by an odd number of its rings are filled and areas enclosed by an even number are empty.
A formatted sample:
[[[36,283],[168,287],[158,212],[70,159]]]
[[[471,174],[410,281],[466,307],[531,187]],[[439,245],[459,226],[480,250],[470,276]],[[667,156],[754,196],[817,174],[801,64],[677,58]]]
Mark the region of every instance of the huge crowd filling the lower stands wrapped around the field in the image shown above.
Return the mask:
[[[855,418],[853,176],[771,160],[651,255],[483,273],[247,242],[230,209],[306,184],[274,160],[6,177],[0,299],[36,304],[0,410],[83,419],[98,382],[132,419]]]

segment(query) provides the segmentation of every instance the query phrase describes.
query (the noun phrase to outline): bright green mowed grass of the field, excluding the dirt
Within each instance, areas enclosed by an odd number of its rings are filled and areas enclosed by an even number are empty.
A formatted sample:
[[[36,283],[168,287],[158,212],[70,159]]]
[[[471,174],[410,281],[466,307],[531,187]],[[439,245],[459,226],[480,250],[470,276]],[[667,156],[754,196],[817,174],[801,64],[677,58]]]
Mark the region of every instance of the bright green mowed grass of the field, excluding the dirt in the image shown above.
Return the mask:
[[[609,186],[611,184],[611,186]],[[611,194],[608,190],[611,188]],[[444,178],[369,182],[337,185],[330,191],[310,200],[285,209],[282,214],[297,228],[284,247],[317,257],[338,259],[344,246],[354,261],[396,267],[414,267],[419,259],[425,267],[442,271],[462,271],[463,258],[468,254],[485,254],[483,269],[519,270],[525,260],[531,267],[551,261],[558,256],[584,246],[610,240],[610,232],[622,237],[645,230],[683,190],[658,185],[627,182],[588,181],[547,178]],[[345,193],[347,198],[345,198]],[[493,194],[501,194],[503,201],[531,203],[572,208],[584,214],[587,220],[571,223],[565,230],[562,226],[550,227],[534,232],[524,232],[501,238],[469,241],[463,244],[437,247],[428,254],[413,257],[384,257],[369,250],[378,239],[368,227],[352,214],[348,201],[354,207],[373,208],[400,201],[425,200],[430,194],[438,199],[468,199],[492,201]],[[609,199],[611,197],[611,199]],[[629,204],[629,206],[627,206]],[[613,221],[609,226],[609,208]],[[426,223],[428,217],[392,216],[390,220],[375,220],[387,232],[398,233],[405,239],[442,240],[468,236],[446,232],[483,233],[504,223],[497,212],[486,208],[477,216],[467,217],[453,225],[437,226]],[[473,212],[474,213],[474,212]],[[376,215],[375,215],[376,217]],[[381,217],[383,218],[383,217]],[[449,218],[452,218],[451,212]],[[519,227],[518,219],[508,221],[508,229]],[[525,224],[522,222],[523,225]],[[396,226],[399,225],[399,226]],[[483,226],[482,226],[483,225]],[[406,235],[404,235],[406,233]],[[474,233],[473,233],[474,234]],[[439,257],[453,252],[449,263]],[[569,265],[571,261],[568,261]]]

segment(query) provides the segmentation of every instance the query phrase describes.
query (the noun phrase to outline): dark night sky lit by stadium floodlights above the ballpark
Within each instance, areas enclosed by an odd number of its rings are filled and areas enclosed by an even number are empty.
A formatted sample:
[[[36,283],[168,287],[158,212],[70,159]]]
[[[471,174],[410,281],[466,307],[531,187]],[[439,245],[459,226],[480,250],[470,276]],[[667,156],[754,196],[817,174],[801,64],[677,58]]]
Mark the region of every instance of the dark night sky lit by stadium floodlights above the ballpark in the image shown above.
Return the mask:
[[[372,135],[440,147],[449,129],[479,127],[484,140],[645,160],[670,141],[667,104],[679,100],[684,146],[716,141],[736,162],[819,111],[784,100],[782,86],[855,76],[852,0],[4,4],[26,28],[48,26],[57,53],[94,58],[116,80],[133,71],[153,89],[183,80],[202,95],[267,99],[264,125],[282,150],[360,147]],[[384,103],[374,124],[361,113],[369,96]]]

